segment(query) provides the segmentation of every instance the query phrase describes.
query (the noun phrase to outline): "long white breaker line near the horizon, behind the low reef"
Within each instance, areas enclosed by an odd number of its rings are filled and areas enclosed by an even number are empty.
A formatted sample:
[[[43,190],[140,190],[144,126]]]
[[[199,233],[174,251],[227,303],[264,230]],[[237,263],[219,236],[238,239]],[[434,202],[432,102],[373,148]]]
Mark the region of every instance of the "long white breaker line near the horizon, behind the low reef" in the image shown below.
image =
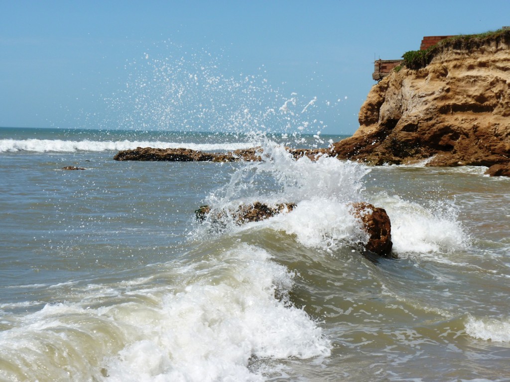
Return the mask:
[[[191,142],[161,142],[161,141],[63,141],[63,140],[41,140],[41,139],[26,139],[26,140],[13,140],[3,139],[0,140],[0,152],[17,152],[17,151],[32,151],[32,152],[77,152],[77,151],[120,151],[132,150],[137,147],[152,147],[152,148],[187,148],[201,151],[212,150],[237,150],[252,147],[253,143],[217,143],[217,144],[196,144]]]

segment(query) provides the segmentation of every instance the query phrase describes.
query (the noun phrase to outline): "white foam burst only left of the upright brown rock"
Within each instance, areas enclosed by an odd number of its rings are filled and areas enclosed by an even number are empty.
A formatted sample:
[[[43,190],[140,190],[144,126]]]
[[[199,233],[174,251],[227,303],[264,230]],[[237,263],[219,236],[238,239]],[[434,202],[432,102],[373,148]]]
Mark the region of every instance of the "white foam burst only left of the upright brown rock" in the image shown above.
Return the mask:
[[[208,204],[228,210],[254,201],[295,203],[292,212],[258,224],[296,235],[307,247],[332,251],[346,242],[367,239],[349,213],[350,202],[363,200],[366,167],[325,156],[316,161],[308,157],[294,160],[283,147],[270,142],[264,146],[263,159],[239,168],[227,187],[210,196]],[[233,229],[244,228],[233,225]]]

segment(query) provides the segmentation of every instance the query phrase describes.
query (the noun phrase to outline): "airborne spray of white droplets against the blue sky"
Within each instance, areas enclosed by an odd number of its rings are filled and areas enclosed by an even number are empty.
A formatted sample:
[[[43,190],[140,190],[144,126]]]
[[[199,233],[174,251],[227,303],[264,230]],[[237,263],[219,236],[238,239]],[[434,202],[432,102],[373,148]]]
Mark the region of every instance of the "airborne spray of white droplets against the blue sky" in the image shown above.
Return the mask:
[[[105,99],[112,116],[107,125],[123,129],[290,132],[296,138],[298,133],[327,127],[319,116],[324,107],[339,104],[295,92],[284,95],[270,85],[264,66],[256,74],[227,74],[228,68],[220,63],[224,59],[221,55],[163,44],[158,50],[165,51],[164,56],[144,53],[125,65],[125,88]]]

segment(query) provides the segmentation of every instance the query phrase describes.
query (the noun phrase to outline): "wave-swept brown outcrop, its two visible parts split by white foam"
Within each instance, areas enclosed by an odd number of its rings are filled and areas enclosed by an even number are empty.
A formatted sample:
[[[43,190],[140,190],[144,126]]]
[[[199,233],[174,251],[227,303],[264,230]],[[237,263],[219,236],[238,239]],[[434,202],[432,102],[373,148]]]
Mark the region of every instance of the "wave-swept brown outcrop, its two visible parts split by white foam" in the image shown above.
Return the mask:
[[[295,207],[294,203],[268,205],[254,202],[253,204],[242,204],[232,211],[214,212],[211,218],[213,224],[220,226],[224,226],[225,220],[229,218],[233,219],[234,223],[242,225],[269,219],[278,213],[290,212]],[[391,252],[393,247],[391,222],[386,210],[374,207],[369,203],[352,203],[350,212],[360,220],[363,229],[369,236],[367,243],[364,243],[364,250],[379,256],[396,258],[396,255]],[[211,207],[205,205],[195,211],[195,216],[198,221],[203,222],[210,213]]]

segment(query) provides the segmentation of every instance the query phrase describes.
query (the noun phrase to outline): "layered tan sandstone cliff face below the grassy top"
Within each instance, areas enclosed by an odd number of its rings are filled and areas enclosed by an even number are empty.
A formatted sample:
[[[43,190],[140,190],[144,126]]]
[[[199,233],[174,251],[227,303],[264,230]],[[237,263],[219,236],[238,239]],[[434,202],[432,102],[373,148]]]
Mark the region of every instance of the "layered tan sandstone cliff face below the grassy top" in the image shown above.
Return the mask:
[[[340,158],[428,166],[510,163],[510,38],[445,46],[429,65],[403,68],[371,89]]]

